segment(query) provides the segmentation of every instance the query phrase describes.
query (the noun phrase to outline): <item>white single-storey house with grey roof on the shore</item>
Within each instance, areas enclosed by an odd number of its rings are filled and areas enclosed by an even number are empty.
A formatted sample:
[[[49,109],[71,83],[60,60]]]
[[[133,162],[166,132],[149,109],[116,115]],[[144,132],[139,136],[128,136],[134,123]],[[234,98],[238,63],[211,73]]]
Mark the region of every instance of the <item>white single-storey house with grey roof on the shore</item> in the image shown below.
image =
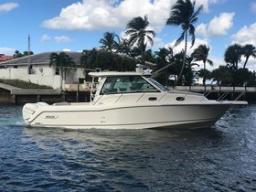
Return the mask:
[[[76,68],[69,70],[65,81],[61,80],[59,68],[49,65],[51,53],[44,52],[0,62],[0,79],[25,80],[47,85],[53,89],[65,89],[69,84],[78,83],[80,78],[85,78],[84,69]],[[81,52],[66,51],[65,53],[73,59],[76,66],[80,67]]]

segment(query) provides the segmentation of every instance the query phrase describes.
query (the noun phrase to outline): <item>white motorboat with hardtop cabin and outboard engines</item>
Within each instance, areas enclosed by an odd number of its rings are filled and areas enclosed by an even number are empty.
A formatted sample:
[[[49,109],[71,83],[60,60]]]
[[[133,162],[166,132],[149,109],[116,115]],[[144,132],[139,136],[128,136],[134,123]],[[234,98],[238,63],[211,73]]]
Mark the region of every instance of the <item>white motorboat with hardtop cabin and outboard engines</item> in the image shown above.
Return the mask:
[[[96,85],[90,102],[27,103],[25,123],[69,129],[203,128],[216,123],[231,105],[202,94],[168,91],[148,71],[90,75]]]

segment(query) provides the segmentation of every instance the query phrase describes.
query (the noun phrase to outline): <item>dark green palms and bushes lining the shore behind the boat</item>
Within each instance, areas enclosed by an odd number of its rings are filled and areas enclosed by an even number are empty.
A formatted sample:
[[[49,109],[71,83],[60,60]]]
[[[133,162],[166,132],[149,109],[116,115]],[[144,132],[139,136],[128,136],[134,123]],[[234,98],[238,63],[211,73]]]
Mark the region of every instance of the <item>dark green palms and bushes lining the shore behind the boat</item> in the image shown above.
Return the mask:
[[[134,70],[137,63],[155,64],[155,79],[165,86],[191,86],[199,79],[205,86],[206,80],[211,80],[219,86],[229,87],[256,87],[256,72],[247,67],[250,58],[256,59],[255,45],[231,44],[225,50],[225,63],[219,68],[209,71],[208,65],[214,66],[208,59],[210,45],[199,45],[187,54],[187,49],[194,46],[196,40],[196,27],[203,5],[196,6],[194,0],[177,0],[171,7],[170,15],[165,26],[181,27],[181,36],[176,39],[174,46],[159,48],[153,51],[155,31],[151,29],[147,16],[136,16],[126,25],[125,36],[119,37],[115,32],[105,32],[99,40],[101,47],[84,49],[80,57],[80,66],[84,69],[108,69],[127,71]],[[191,41],[189,41],[189,39]],[[185,47],[175,53],[174,48],[181,42]],[[191,45],[188,45],[191,44]],[[14,58],[33,55],[33,52],[25,51],[24,54],[16,50]],[[243,59],[245,59],[244,63]],[[65,51],[51,53],[49,65],[59,69],[59,75],[65,80],[69,69],[74,68],[73,59]],[[203,69],[195,69],[199,64]]]

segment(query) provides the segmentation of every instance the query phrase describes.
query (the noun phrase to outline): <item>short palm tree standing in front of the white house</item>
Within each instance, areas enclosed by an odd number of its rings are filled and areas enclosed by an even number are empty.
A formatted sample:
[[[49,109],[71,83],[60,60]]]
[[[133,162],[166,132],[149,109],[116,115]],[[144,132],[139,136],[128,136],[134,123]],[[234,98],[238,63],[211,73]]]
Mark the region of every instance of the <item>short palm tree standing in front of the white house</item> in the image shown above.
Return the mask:
[[[60,70],[60,77],[62,81],[60,87],[62,88],[65,84],[69,70],[75,67],[75,62],[65,52],[60,52],[59,54],[53,52],[50,54],[49,60],[49,67],[54,65],[57,70]]]

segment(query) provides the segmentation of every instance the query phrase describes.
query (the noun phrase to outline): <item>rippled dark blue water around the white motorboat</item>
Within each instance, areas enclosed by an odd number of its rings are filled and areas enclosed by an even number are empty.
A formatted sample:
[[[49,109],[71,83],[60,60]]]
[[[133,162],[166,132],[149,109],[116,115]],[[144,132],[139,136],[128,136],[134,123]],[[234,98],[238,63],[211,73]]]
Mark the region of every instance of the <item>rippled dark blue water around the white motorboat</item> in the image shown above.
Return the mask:
[[[256,191],[256,105],[210,129],[27,128],[0,106],[0,191]]]

